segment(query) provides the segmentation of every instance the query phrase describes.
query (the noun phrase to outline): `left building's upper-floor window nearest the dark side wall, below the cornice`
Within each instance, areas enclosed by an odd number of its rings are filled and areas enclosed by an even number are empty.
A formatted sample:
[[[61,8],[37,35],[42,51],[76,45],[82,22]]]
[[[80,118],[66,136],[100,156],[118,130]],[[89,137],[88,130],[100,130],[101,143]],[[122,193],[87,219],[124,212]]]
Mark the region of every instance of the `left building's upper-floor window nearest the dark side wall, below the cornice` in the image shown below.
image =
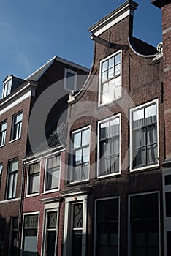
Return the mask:
[[[22,127],[23,113],[18,113],[13,116],[12,123],[12,140],[19,139],[21,136],[21,127]]]

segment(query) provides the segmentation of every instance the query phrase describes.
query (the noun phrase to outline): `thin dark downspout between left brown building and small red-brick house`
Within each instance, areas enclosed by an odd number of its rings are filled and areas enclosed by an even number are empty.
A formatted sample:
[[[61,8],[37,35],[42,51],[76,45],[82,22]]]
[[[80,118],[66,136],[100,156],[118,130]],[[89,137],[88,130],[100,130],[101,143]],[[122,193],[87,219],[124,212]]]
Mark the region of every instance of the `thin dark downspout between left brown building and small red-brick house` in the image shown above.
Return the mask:
[[[19,208],[19,217],[18,217],[18,253],[20,256],[20,247],[21,247],[21,233],[22,233],[22,225],[23,225],[23,200],[24,200],[24,192],[25,192],[25,180],[26,180],[26,164],[23,163],[22,168],[22,184],[20,188],[20,208]]]

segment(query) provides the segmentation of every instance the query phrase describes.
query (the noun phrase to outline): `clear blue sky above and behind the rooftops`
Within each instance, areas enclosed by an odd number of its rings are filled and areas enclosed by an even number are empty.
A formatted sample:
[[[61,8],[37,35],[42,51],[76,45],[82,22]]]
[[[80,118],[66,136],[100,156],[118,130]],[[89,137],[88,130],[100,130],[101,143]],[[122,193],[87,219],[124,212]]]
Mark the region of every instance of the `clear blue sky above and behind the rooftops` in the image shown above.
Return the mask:
[[[161,10],[135,0],[134,37],[161,42]],[[4,78],[26,78],[53,56],[90,68],[93,42],[88,27],[125,0],[6,0],[0,2],[0,95]]]

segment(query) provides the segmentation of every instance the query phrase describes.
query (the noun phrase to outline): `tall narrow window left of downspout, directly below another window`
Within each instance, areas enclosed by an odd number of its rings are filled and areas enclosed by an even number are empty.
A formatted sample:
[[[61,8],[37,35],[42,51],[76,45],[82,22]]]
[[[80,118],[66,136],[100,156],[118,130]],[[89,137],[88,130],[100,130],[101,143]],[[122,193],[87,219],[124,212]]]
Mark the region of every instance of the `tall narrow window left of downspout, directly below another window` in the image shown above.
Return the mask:
[[[15,198],[18,181],[18,159],[9,161],[7,199]]]

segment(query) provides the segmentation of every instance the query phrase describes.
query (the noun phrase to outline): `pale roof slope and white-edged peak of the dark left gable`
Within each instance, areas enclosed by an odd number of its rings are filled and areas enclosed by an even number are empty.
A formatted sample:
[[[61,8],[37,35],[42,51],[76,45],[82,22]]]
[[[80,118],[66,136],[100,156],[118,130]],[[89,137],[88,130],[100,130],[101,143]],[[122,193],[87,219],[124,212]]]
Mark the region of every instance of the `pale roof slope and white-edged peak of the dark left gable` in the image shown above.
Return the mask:
[[[47,61],[47,63],[45,63],[42,67],[40,67],[39,69],[37,69],[34,73],[32,73],[31,75],[29,75],[26,80],[34,80],[34,81],[38,81],[39,78],[42,77],[42,75],[46,72],[46,70],[51,66],[51,64],[53,64],[54,61],[59,61],[61,63],[67,64],[69,66],[75,67],[77,69],[81,69],[85,72],[89,72],[89,69],[87,69],[86,67],[83,67],[79,64],[76,64],[72,61],[67,61],[66,59],[62,59],[58,56],[54,56],[52,59],[50,59],[49,61]]]

